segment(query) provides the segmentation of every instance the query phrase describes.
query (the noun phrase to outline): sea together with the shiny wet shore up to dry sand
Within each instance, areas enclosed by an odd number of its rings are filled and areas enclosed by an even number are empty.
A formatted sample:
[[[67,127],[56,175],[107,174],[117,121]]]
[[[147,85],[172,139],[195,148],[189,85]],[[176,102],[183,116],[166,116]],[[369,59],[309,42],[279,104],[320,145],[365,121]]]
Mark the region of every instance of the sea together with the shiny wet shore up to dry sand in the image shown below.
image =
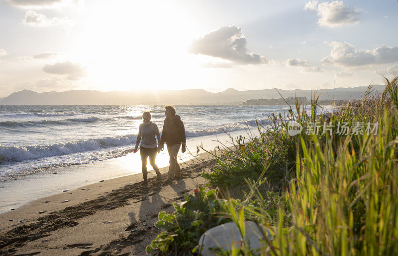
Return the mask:
[[[232,136],[256,132],[256,119],[286,106],[179,106],[187,152],[213,149]],[[162,131],[163,106],[0,106],[0,213],[29,201],[100,180],[141,173],[140,154],[132,154],[142,112]],[[167,150],[156,157],[169,165]],[[152,169],[148,163],[148,170]],[[149,175],[151,177],[152,174]]]

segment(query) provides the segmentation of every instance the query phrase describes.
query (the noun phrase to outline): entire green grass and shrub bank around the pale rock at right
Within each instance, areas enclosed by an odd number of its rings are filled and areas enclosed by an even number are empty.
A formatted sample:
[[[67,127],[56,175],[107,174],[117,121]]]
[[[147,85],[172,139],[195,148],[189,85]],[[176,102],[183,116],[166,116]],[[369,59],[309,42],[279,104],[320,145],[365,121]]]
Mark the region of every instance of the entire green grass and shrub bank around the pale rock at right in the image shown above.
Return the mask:
[[[318,113],[316,94],[306,106],[297,99],[286,117],[272,114],[270,126],[259,125],[259,137],[220,145],[211,152],[217,163],[202,173],[208,188],[159,214],[164,232],[147,252],[198,254],[209,228],[234,222],[244,237],[244,220],[251,220],[263,230],[260,250],[242,242],[215,252],[398,255],[398,76],[386,79],[380,97],[371,90],[329,113]],[[288,134],[291,121],[300,134]],[[306,132],[310,127],[318,134]],[[231,197],[233,187],[245,192]]]

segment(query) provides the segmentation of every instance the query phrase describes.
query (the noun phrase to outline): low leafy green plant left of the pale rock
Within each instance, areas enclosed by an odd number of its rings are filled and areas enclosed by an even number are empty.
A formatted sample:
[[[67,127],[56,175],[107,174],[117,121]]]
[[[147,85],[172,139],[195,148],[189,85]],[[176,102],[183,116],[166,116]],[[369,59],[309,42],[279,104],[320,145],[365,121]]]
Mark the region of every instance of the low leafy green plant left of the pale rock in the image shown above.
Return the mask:
[[[191,254],[198,250],[200,236],[208,229],[229,220],[221,214],[226,200],[217,198],[217,190],[195,189],[195,194],[186,194],[185,202],[174,203],[175,211],[159,212],[157,228],[165,230],[152,240],[146,252],[161,251],[163,254]]]

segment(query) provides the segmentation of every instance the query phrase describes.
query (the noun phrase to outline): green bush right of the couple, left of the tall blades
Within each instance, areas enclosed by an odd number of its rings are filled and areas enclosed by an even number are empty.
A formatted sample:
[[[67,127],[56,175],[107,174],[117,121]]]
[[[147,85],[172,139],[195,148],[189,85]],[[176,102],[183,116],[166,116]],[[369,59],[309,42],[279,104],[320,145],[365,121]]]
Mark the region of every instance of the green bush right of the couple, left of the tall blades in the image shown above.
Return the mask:
[[[232,139],[232,147],[207,151],[215,156],[217,164],[210,171],[203,172],[202,177],[214,187],[234,187],[245,184],[245,179],[257,181],[266,170],[264,177],[267,181],[280,185],[295,166],[297,142],[283,129],[281,115],[278,121],[273,114],[269,118],[270,126],[257,123],[259,137],[239,136]]]

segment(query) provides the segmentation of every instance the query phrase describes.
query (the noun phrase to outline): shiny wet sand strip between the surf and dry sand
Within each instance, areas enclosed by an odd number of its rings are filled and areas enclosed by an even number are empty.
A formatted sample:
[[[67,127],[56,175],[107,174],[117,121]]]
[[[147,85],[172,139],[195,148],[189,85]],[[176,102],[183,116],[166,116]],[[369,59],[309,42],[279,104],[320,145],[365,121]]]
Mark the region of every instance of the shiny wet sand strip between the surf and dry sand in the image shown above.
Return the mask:
[[[244,132],[244,130],[239,130],[230,134],[231,136],[237,136]],[[196,153],[197,145],[202,144],[206,149],[214,149],[218,144],[213,141],[216,138],[220,141],[229,141],[228,135],[224,133],[187,139],[187,152],[180,152],[178,157],[179,163],[182,164],[183,162],[190,161],[194,156],[198,155]],[[167,150],[157,155],[156,164],[159,168],[169,165]],[[155,173],[149,163],[147,168],[150,172],[148,177],[154,177]],[[56,167],[44,174],[29,175],[22,179],[6,181],[1,184],[1,187],[4,188],[0,188],[0,192],[2,193],[0,214],[9,212],[11,209],[18,209],[33,200],[65,190],[74,190],[82,186],[98,183],[100,180],[109,180],[137,173],[142,177],[139,153],[128,153],[125,156],[109,158],[93,163]]]

